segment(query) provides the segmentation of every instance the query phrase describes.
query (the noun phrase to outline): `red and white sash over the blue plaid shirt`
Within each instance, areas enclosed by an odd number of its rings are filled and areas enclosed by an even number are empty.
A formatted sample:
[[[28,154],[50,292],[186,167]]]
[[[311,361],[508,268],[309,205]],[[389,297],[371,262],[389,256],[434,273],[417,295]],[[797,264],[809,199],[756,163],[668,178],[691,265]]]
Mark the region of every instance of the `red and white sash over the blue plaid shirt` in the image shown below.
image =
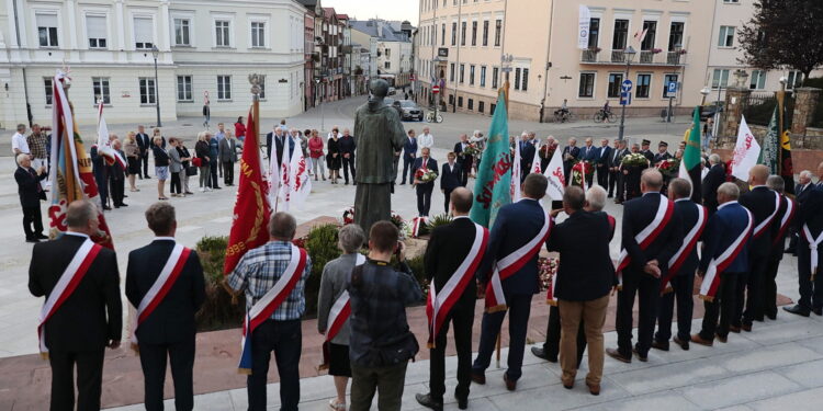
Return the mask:
[[[246,319],[243,322],[243,343],[240,353],[240,364],[238,372],[240,374],[251,374],[251,333],[255,332],[261,323],[268,320],[274,310],[289,297],[294,287],[297,285],[303,271],[306,267],[306,250],[294,244],[291,246],[291,259],[286,265],[283,275],[274,283],[262,298],[260,298],[251,309],[246,312]]]

